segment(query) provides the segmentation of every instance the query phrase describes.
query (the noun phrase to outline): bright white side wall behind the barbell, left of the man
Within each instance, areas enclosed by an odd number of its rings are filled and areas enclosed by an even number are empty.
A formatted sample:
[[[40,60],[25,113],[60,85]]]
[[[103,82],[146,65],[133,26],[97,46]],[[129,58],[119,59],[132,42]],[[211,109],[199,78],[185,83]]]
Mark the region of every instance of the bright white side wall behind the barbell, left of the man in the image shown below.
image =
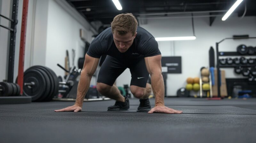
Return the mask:
[[[75,49],[75,66],[79,57],[84,57],[85,43],[79,37],[79,30],[84,29],[87,41],[91,42],[92,32],[84,28],[69,15],[55,1],[49,1],[47,21],[47,44],[45,65],[55,71],[57,75],[64,75],[64,71],[57,63],[65,65],[66,50],[69,52],[70,66],[72,66],[72,49]]]

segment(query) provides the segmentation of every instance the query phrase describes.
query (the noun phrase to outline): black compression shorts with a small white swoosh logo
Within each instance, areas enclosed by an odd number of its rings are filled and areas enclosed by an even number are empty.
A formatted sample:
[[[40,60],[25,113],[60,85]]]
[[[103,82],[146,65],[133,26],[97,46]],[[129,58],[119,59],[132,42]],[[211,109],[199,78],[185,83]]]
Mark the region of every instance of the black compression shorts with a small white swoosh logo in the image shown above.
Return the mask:
[[[130,86],[133,85],[145,88],[149,74],[144,58],[126,64],[112,56],[107,56],[101,65],[97,82],[113,86],[117,77],[122,74],[126,68],[130,69],[132,75]]]

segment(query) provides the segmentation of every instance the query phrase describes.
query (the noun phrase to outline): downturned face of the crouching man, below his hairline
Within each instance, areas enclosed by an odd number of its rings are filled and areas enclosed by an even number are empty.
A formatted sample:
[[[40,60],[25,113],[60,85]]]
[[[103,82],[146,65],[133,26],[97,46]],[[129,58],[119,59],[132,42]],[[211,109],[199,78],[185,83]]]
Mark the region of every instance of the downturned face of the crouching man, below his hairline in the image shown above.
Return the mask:
[[[136,37],[137,33],[132,35],[131,32],[125,34],[125,35],[118,35],[116,33],[113,34],[114,42],[116,44],[116,48],[119,52],[124,53],[126,52],[133,43],[134,38]]]

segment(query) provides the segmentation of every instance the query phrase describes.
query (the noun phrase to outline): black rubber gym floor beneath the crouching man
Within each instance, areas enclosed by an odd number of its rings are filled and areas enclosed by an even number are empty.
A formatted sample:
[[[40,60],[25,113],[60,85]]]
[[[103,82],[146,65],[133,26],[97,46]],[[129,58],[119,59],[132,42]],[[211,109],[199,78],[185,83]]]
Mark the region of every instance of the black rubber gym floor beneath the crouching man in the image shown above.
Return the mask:
[[[154,106],[154,99],[150,99]],[[113,100],[84,102],[83,111],[54,112],[74,102],[0,105],[0,143],[255,143],[256,99],[165,98],[183,114],[110,112]]]

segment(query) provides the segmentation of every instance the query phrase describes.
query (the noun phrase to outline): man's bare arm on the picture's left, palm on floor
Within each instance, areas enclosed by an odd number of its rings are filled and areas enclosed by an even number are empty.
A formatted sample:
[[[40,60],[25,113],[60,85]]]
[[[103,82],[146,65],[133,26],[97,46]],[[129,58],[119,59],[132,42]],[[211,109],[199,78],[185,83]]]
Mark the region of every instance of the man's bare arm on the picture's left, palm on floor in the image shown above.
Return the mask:
[[[78,82],[75,105],[69,106],[67,108],[60,109],[60,110],[54,110],[55,112],[63,112],[63,111],[78,112],[82,110],[84,96],[90,87],[92,75],[97,69],[99,60],[100,60],[99,58],[94,58],[85,54],[84,67],[81,71],[80,80]]]

